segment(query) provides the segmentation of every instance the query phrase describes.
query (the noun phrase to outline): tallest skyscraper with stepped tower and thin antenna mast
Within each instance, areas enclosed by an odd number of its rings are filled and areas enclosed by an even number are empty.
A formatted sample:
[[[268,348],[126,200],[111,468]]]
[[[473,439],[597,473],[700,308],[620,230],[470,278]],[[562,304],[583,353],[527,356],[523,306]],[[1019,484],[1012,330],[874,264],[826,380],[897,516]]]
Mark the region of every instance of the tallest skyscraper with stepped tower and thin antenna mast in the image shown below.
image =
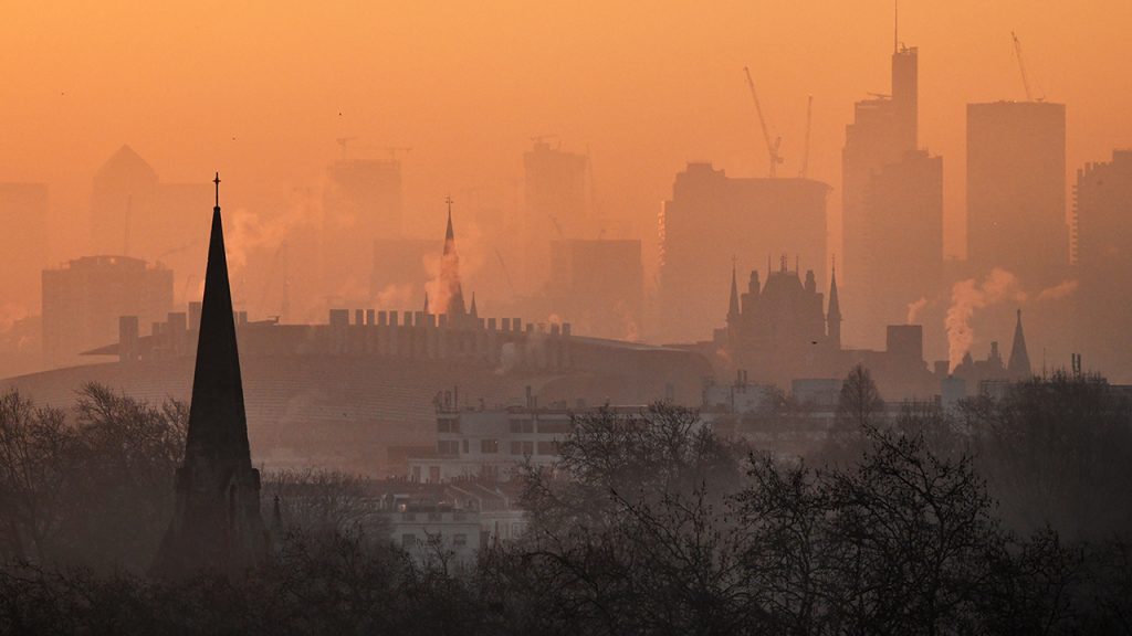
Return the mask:
[[[891,95],[857,102],[841,154],[847,336],[877,337],[934,295],[943,267],[943,160],[918,149],[918,50],[892,53]],[[876,343],[871,343],[876,344]]]

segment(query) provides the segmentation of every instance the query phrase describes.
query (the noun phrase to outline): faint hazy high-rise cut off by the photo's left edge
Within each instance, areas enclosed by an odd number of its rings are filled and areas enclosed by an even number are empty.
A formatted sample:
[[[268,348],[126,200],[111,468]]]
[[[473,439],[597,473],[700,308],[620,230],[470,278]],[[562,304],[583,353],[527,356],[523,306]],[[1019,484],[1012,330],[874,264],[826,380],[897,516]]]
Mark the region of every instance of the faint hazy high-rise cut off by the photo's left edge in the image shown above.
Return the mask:
[[[44,183],[0,183],[0,253],[5,292],[0,328],[6,319],[34,313],[40,303],[40,272],[48,263],[48,187]]]

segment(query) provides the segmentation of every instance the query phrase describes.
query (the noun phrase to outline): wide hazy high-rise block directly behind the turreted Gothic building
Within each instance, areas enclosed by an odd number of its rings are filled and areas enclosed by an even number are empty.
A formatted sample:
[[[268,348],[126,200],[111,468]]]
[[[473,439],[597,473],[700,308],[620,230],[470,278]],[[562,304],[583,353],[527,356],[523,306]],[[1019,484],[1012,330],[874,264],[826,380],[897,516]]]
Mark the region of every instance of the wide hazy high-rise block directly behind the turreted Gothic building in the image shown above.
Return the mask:
[[[727,290],[712,282],[736,256],[786,252],[805,263],[829,263],[829,191],[812,179],[736,179],[709,163],[689,163],[676,175],[660,216],[657,335],[691,341],[709,329],[727,304]],[[824,272],[816,274],[818,286],[824,286]]]

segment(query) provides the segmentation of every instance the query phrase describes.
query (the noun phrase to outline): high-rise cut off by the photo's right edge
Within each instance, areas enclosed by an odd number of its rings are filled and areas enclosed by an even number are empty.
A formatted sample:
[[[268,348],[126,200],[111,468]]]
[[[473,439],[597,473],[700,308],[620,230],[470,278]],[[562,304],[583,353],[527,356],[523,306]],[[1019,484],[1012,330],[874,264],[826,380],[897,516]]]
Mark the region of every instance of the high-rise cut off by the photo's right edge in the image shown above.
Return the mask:
[[[1086,367],[1114,381],[1132,381],[1132,151],[1077,171],[1073,189],[1077,307]]]

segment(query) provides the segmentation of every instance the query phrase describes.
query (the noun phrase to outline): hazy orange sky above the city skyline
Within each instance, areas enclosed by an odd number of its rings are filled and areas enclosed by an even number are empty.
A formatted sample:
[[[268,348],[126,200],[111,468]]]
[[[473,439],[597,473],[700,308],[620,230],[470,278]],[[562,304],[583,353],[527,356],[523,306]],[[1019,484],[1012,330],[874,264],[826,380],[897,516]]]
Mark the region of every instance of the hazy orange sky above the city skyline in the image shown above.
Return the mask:
[[[151,5],[164,3],[6,7],[0,180],[51,184],[52,259],[82,249],[91,177],[123,143],[164,180],[220,170],[225,205],[251,209],[316,184],[336,137],[411,146],[409,226],[437,234],[446,194],[505,192],[542,134],[589,148],[602,209],[632,220],[651,258],[686,161],[765,171],[744,66],[787,173],[814,94],[811,175],[838,187],[852,102],[887,92],[892,46],[886,0]],[[920,49],[921,144],[944,155],[949,251],[964,104],[1022,97],[1011,31],[1034,83],[1069,105],[1070,173],[1132,146],[1132,2],[906,0],[901,23]]]

